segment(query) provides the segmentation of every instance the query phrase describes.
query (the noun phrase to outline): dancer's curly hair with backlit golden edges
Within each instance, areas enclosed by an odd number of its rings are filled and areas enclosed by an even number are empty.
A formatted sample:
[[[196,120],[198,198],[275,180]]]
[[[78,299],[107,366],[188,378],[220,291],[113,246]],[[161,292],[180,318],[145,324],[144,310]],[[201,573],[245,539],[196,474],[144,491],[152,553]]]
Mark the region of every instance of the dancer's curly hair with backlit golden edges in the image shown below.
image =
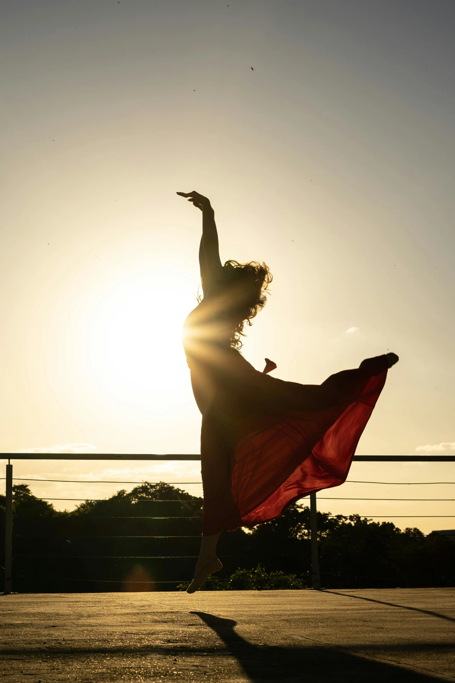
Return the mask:
[[[240,350],[240,337],[245,336],[244,325],[252,325],[252,319],[265,306],[272,275],[265,263],[256,261],[239,263],[229,260],[224,264],[223,270],[226,279],[224,292],[232,294],[229,318],[235,326],[231,335],[231,347]]]

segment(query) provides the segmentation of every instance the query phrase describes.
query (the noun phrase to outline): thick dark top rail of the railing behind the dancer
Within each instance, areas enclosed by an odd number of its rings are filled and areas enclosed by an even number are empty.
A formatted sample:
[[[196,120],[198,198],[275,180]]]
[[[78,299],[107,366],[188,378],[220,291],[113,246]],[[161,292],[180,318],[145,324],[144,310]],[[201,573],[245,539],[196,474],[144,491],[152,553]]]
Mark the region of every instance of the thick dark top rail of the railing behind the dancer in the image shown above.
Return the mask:
[[[199,454],[0,453],[5,460],[201,460]],[[357,462],[455,462],[453,456],[354,456]]]

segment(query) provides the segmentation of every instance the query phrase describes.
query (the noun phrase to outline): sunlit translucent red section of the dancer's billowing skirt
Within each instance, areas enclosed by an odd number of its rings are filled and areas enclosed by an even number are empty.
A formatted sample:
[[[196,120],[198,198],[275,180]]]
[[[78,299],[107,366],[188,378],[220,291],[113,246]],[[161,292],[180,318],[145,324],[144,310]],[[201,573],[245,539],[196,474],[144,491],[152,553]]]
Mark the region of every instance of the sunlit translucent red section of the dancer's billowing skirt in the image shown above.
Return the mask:
[[[232,492],[242,525],[267,522],[302,497],[346,480],[386,375],[372,377],[358,400],[347,407],[314,413],[308,421],[282,420],[238,445]],[[314,434],[321,432],[311,448]]]

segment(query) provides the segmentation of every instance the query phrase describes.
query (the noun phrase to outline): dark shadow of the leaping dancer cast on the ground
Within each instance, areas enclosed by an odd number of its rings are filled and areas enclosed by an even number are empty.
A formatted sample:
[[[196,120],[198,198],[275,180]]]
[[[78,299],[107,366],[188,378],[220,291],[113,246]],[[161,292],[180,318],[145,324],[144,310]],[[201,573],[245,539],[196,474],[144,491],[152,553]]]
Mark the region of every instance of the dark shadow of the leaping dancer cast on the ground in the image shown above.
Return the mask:
[[[350,683],[424,683],[440,680],[430,673],[416,673],[407,667],[375,660],[371,656],[356,655],[340,647],[253,645],[235,632],[237,622],[233,619],[222,619],[205,612],[192,614],[199,616],[216,632],[253,683],[335,683],[344,680]],[[421,648],[433,649],[432,645],[421,645]],[[381,650],[384,649],[388,650],[381,647]],[[407,645],[401,648],[395,645],[392,649],[399,651],[409,648]]]

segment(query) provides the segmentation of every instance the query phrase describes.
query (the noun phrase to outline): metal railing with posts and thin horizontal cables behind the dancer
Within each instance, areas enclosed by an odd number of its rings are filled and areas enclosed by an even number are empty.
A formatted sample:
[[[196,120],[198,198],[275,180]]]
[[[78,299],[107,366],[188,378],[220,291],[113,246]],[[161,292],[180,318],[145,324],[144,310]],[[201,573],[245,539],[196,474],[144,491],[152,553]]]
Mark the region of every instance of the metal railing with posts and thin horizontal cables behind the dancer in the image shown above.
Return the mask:
[[[30,454],[30,453],[3,453],[0,459],[7,459],[5,475],[5,595],[12,592],[12,482],[13,466],[10,460],[201,460],[198,454]],[[355,462],[455,462],[455,456],[354,456]],[[27,479],[18,477],[20,481],[46,481],[46,482],[68,482],[68,479]],[[69,482],[68,482],[69,483]],[[81,484],[143,484],[143,482],[83,482]],[[202,482],[164,482],[167,484],[201,484]],[[413,484],[455,484],[455,482],[353,482],[363,484],[400,484],[403,486]],[[412,499],[346,499],[343,497],[324,497],[325,500],[412,500]],[[98,500],[98,499],[50,499],[45,500]],[[414,500],[439,500],[439,499],[414,499]],[[452,500],[452,499],[447,499]],[[162,501],[165,502],[165,501]],[[388,517],[394,515],[388,515]],[[415,515],[409,515],[415,517]],[[419,515],[421,517],[431,517],[432,515]],[[437,517],[449,517],[450,515],[435,515]],[[455,516],[455,515],[454,515]],[[151,517],[150,517],[151,518]],[[164,517],[153,517],[164,519]],[[168,518],[168,517],[166,517]],[[192,516],[194,518],[194,516]],[[160,538],[160,537],[153,537]],[[167,537],[166,537],[167,538]],[[177,538],[177,537],[175,537]],[[180,537],[179,537],[180,538]],[[181,538],[189,538],[182,536]],[[318,552],[318,530],[317,530],[317,497],[316,493],[310,494],[310,540],[311,540],[311,577],[312,587],[319,590],[321,587],[321,576],[319,572],[319,552]],[[158,557],[158,556],[156,556]],[[171,556],[160,556],[171,557]],[[175,556],[181,557],[181,556]],[[186,556],[190,557],[190,556]],[[191,556],[192,557],[192,556]],[[197,557],[197,556],[194,556]],[[96,581],[93,579],[93,581]],[[113,582],[108,582],[113,583]],[[132,582],[138,583],[138,582]],[[139,582],[141,583],[141,582]],[[162,582],[158,582],[162,583]],[[173,582],[164,582],[173,583]]]

